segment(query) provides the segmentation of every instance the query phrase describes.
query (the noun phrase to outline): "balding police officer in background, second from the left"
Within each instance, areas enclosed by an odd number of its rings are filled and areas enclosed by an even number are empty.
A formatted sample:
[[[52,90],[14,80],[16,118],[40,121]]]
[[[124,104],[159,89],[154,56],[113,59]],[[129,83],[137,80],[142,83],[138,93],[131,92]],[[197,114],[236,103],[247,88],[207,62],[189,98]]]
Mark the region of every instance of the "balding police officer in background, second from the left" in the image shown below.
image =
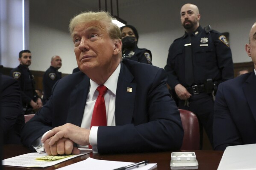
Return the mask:
[[[44,72],[43,84],[44,84],[44,103],[46,103],[52,95],[53,85],[62,78],[62,73],[58,70],[62,66],[62,59],[55,55],[51,59],[51,66]]]

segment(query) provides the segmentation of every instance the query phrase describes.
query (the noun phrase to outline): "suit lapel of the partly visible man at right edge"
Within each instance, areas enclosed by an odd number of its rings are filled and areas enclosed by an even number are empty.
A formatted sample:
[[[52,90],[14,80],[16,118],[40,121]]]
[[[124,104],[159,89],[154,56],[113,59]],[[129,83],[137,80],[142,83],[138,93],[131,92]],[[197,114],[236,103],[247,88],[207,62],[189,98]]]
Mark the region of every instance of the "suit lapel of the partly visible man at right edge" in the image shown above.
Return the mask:
[[[243,85],[244,95],[256,120],[256,76],[252,72]]]

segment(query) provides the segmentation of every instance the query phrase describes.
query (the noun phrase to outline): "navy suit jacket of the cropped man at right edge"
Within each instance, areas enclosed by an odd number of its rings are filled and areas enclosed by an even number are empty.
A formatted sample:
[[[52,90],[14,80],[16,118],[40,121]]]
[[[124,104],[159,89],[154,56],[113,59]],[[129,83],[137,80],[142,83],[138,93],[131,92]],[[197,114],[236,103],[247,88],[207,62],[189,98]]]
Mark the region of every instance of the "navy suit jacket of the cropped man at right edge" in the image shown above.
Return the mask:
[[[256,76],[240,75],[218,86],[214,107],[215,150],[256,143]]]

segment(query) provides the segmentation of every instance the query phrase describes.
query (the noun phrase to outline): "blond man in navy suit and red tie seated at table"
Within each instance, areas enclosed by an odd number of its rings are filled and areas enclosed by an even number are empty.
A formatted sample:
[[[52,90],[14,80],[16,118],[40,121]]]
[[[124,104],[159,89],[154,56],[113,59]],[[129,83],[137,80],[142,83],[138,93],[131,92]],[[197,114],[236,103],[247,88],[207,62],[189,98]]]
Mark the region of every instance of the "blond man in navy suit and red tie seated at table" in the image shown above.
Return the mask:
[[[24,126],[23,143],[40,148],[41,139],[48,155],[77,154],[86,145],[94,153],[179,150],[184,132],[165,71],[121,61],[121,32],[106,12],[75,16],[70,33],[81,72],[56,83]]]

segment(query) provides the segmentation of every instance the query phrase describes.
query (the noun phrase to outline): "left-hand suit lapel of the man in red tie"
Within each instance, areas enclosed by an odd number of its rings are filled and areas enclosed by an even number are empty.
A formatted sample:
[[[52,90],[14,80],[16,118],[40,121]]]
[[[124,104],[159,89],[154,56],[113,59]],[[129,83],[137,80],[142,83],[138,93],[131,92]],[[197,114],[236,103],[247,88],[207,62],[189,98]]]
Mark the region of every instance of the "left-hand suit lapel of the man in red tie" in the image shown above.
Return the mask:
[[[67,118],[68,123],[81,126],[89,87],[90,79],[86,75],[83,75],[82,81],[76,85],[76,88],[70,95],[70,109]]]

